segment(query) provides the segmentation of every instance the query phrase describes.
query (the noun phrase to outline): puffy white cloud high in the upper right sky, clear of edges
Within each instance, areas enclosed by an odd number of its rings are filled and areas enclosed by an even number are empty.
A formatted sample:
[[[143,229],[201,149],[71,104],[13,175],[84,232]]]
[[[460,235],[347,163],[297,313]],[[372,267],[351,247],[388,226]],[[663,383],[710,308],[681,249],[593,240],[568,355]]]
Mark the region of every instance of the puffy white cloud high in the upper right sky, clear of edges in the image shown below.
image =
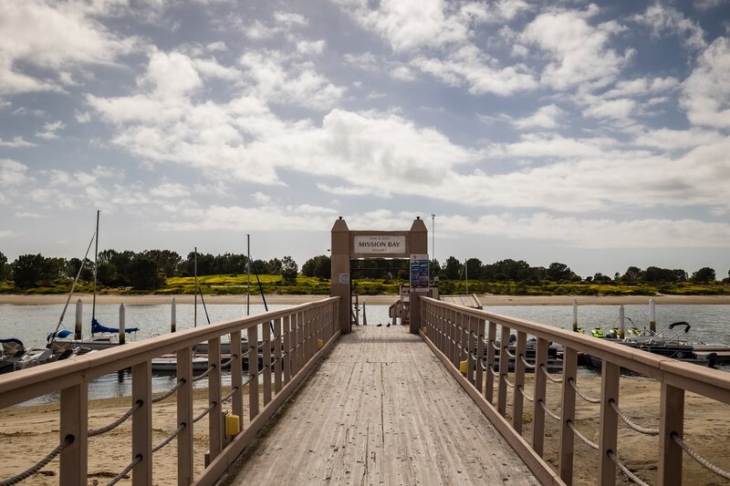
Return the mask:
[[[540,14],[530,22],[519,39],[537,46],[547,55],[541,82],[550,88],[600,88],[613,82],[633,51],[623,54],[610,48],[610,37],[623,27],[616,22],[589,25],[587,19],[598,13],[596,7],[583,11],[553,11]]]

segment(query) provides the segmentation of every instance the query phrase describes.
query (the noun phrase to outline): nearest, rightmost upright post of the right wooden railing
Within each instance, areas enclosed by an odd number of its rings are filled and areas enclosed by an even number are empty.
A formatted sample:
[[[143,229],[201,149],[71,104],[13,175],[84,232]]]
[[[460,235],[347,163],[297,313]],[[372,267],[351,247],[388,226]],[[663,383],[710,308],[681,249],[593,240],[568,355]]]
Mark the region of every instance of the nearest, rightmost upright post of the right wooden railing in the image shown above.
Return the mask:
[[[672,439],[672,433],[675,432],[680,438],[683,436],[684,390],[662,381],[661,399],[658,484],[682,484],[683,450]]]

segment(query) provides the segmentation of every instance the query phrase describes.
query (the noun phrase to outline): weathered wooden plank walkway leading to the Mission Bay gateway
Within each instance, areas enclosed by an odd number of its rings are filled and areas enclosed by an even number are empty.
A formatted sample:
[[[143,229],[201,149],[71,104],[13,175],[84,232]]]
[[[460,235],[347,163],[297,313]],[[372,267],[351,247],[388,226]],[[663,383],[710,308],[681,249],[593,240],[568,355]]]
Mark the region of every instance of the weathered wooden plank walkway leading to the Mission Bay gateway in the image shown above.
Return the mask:
[[[354,327],[223,484],[539,484],[401,326]]]

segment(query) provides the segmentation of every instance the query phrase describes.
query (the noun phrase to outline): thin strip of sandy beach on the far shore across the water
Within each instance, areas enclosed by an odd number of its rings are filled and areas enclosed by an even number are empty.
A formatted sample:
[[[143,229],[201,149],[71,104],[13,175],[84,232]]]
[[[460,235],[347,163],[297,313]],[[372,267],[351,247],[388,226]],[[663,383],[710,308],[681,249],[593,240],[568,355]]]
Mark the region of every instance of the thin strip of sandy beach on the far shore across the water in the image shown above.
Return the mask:
[[[161,305],[172,302],[193,304],[193,295],[97,295],[98,304]],[[266,303],[274,305],[299,305],[326,298],[327,295],[266,295]],[[573,299],[579,305],[642,305],[648,304],[651,295],[478,295],[482,305],[572,305]],[[0,295],[0,304],[11,305],[55,305],[65,304],[67,295]],[[72,304],[78,299],[91,304],[89,294],[74,295]],[[206,304],[244,304],[245,295],[205,295]],[[370,305],[391,305],[397,295],[360,295],[360,303]],[[730,295],[656,295],[658,305],[730,305]],[[251,295],[250,303],[263,304],[260,295]]]

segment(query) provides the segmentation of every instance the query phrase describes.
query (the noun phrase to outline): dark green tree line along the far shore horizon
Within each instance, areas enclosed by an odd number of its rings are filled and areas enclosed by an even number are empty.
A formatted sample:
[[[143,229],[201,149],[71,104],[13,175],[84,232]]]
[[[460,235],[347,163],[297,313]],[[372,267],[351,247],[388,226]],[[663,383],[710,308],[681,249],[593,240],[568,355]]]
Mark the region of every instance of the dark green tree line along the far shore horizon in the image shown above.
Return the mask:
[[[118,252],[104,250],[98,255],[97,282],[108,287],[133,287],[153,289],[164,286],[167,278],[193,276],[197,264],[198,275],[245,274],[248,258],[241,253],[188,253],[185,258],[170,250],[145,250]],[[44,257],[41,254],[22,254],[8,262],[0,252],[0,282],[12,281],[16,287],[31,288],[51,285],[59,279],[73,279],[81,268],[78,258]],[[547,267],[532,266],[524,260],[505,259],[493,264],[484,264],[478,258],[464,262],[449,256],[443,264],[431,261],[431,275],[443,280],[479,280],[484,282],[585,282],[585,283],[707,283],[717,280],[713,268],[703,267],[688,274],[682,269],[667,269],[649,266],[641,269],[630,266],[626,272],[611,275],[594,274],[581,277],[567,264],[554,262]],[[301,267],[301,273],[309,277],[329,279],[330,258],[328,255],[314,256]],[[93,262],[84,263],[79,279],[93,280]],[[278,274],[288,284],[295,282],[299,271],[297,262],[291,256],[271,260],[252,260],[251,272],[257,274]],[[384,279],[407,281],[408,260],[353,260],[350,264],[351,278]],[[723,279],[730,283],[730,272]]]

